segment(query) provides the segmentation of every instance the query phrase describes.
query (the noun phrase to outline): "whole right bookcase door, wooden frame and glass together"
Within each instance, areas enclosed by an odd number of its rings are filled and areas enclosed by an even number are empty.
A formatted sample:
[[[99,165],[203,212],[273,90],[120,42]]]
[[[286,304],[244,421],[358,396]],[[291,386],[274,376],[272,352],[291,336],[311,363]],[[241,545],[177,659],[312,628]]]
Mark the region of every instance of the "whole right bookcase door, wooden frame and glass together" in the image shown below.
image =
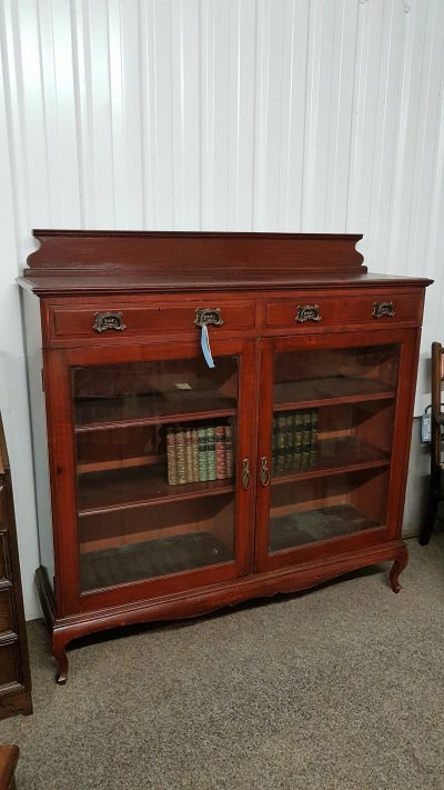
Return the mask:
[[[264,341],[260,568],[389,534],[403,343],[377,336]]]

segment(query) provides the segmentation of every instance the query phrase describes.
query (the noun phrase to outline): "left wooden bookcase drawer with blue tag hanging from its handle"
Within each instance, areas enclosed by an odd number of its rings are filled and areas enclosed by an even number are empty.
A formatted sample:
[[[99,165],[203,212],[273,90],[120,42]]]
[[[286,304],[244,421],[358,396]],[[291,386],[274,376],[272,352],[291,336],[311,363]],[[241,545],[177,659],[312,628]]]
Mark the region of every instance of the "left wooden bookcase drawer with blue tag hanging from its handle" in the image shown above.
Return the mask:
[[[88,308],[54,306],[50,308],[50,334],[58,339],[133,337],[152,333],[190,333],[198,327],[196,310],[220,309],[220,326],[213,331],[231,333],[253,329],[254,302],[206,304],[205,302],[151,302],[150,304],[119,304],[101,302]]]

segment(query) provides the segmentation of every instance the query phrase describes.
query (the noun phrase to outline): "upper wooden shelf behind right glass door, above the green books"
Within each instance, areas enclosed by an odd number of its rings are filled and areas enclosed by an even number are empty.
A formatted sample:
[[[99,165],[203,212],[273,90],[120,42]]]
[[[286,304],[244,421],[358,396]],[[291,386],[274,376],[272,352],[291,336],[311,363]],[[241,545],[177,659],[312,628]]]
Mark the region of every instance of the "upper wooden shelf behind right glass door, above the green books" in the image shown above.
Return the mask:
[[[273,411],[335,403],[362,403],[395,397],[389,384],[372,379],[327,377],[275,384]]]

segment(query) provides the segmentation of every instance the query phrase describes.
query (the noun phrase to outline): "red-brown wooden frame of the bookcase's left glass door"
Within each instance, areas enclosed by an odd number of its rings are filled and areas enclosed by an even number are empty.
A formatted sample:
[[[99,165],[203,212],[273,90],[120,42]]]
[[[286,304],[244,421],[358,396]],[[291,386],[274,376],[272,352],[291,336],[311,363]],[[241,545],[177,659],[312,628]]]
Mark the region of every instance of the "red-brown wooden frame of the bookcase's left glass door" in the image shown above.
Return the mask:
[[[100,591],[81,593],[80,553],[77,519],[75,454],[70,369],[77,364],[120,364],[160,359],[186,359],[201,353],[198,341],[164,340],[164,343],[140,342],[119,347],[46,349],[43,356],[44,389],[49,419],[49,462],[58,618],[80,611],[120,606],[129,601],[199,588],[248,574],[253,564],[253,519],[255,496],[254,438],[256,431],[256,343],[253,339],[214,339],[214,357],[239,358],[235,551],[233,563],[196,571],[120,584]],[[250,488],[241,484],[242,458],[249,458]]]

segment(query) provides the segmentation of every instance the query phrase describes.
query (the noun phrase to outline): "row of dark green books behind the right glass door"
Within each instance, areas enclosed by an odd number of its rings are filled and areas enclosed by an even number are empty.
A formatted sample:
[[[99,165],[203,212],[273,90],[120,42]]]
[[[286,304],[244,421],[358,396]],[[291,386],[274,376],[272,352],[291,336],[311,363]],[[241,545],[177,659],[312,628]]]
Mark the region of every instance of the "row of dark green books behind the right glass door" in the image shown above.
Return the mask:
[[[317,409],[284,411],[273,417],[272,471],[284,472],[317,461]]]

